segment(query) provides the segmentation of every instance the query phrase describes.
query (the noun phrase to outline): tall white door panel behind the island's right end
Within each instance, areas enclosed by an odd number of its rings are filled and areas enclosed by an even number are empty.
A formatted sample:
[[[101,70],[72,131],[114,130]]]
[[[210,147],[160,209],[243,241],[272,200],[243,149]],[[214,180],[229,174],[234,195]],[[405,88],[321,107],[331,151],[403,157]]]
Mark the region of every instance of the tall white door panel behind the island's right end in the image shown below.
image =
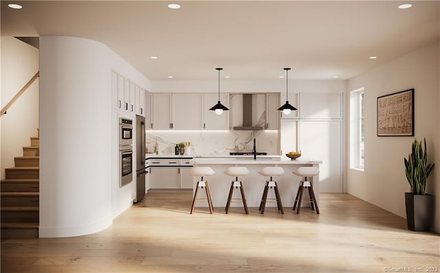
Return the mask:
[[[342,120],[299,122],[301,158],[322,161],[320,192],[342,193]]]

